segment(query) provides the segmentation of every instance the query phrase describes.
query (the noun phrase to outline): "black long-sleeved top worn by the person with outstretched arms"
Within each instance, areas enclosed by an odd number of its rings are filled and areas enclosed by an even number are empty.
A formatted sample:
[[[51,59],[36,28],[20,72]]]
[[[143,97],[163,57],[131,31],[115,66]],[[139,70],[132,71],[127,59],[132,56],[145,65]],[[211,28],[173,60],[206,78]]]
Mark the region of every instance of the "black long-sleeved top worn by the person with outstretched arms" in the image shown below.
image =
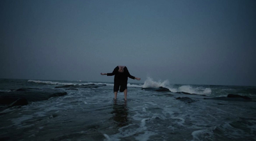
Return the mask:
[[[128,77],[132,78],[132,79],[135,79],[134,76],[130,75],[126,66],[124,67],[124,72],[119,72],[118,70],[119,70],[119,67],[116,66],[116,68],[113,70],[113,72],[112,73],[107,73],[107,75],[108,76],[115,75],[115,78],[114,78],[115,81],[127,82]]]

